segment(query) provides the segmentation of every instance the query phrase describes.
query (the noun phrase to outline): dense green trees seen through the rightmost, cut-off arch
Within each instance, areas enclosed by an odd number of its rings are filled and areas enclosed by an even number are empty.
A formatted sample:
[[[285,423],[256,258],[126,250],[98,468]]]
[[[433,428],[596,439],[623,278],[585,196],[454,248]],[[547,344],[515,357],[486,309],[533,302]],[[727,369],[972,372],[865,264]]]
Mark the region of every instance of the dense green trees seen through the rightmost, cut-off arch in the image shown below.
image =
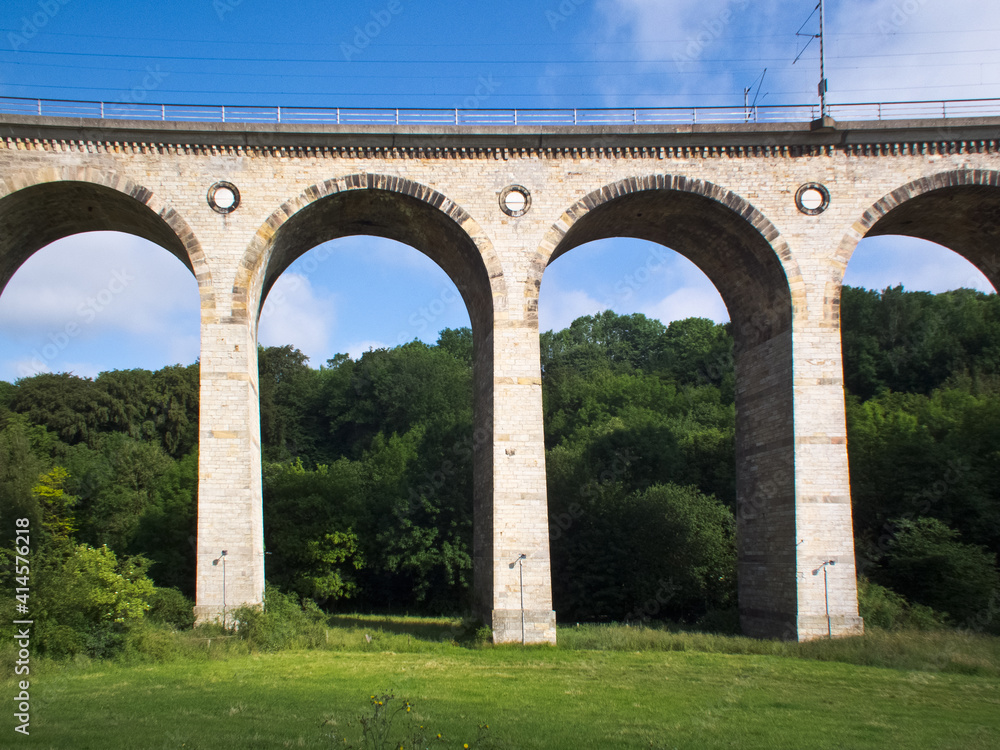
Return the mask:
[[[845,287],[859,570],[1000,633],[1000,297]]]

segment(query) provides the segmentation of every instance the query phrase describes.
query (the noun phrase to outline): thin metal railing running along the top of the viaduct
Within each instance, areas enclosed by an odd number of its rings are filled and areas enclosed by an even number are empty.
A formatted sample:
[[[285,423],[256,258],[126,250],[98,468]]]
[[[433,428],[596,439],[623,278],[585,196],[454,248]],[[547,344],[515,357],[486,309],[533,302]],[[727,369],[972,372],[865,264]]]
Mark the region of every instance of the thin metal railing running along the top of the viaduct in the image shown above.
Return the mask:
[[[811,122],[818,104],[758,107],[633,107],[611,109],[419,109],[136,104],[0,97],[0,115],[36,115],[169,122],[305,125],[692,125]],[[835,120],[916,120],[998,117],[1000,99],[831,104]]]

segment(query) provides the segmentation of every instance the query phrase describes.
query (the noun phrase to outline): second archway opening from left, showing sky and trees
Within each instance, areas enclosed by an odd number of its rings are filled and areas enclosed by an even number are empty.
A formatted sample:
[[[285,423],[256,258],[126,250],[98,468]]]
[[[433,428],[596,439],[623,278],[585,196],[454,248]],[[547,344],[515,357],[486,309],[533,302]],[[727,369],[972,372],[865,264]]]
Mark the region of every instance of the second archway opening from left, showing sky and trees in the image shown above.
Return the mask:
[[[333,611],[466,613],[472,338],[454,283],[394,240],[331,240],[276,280],[258,341],[268,583]]]

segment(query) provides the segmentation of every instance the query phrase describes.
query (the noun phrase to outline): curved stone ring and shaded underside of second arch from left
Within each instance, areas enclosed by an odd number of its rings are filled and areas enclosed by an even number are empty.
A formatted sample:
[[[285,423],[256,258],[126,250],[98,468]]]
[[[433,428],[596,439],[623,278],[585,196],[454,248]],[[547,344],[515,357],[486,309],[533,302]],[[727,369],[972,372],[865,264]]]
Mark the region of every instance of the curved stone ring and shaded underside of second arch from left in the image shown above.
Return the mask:
[[[302,253],[350,235],[396,240],[435,261],[458,287],[483,339],[506,305],[500,259],[468,212],[403,177],[352,174],[312,185],[271,214],[247,248],[233,287],[233,314],[256,327],[274,282]]]

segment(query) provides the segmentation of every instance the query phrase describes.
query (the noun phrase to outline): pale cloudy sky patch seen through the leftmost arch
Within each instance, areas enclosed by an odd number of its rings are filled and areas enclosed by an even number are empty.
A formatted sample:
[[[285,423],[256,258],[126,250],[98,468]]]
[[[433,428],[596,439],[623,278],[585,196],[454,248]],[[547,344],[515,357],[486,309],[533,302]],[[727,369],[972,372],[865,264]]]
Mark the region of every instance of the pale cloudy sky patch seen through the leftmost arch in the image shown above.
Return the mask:
[[[193,362],[200,313],[194,276],[163,248],[117,232],[67,237],[0,295],[0,377]]]

